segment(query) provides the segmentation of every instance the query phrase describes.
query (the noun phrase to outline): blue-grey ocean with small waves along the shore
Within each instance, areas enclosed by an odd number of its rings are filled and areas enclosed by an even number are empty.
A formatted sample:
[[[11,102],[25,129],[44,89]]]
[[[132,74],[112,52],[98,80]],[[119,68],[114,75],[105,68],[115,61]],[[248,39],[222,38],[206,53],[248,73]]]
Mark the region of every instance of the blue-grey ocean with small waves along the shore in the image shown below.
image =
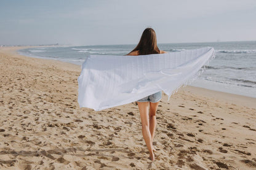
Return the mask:
[[[21,55],[81,65],[89,55],[126,55],[133,45],[37,47],[19,50]],[[192,86],[256,98],[256,41],[158,44],[166,52],[214,47],[212,60]]]

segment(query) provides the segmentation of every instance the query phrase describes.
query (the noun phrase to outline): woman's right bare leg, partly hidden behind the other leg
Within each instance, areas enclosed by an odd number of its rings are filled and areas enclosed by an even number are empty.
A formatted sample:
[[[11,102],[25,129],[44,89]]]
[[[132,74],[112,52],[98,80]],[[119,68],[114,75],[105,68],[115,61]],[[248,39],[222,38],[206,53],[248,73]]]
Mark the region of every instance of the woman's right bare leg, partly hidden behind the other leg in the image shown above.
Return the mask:
[[[159,102],[150,102],[150,133],[151,141],[154,139],[154,132],[156,131],[156,109],[158,109]]]

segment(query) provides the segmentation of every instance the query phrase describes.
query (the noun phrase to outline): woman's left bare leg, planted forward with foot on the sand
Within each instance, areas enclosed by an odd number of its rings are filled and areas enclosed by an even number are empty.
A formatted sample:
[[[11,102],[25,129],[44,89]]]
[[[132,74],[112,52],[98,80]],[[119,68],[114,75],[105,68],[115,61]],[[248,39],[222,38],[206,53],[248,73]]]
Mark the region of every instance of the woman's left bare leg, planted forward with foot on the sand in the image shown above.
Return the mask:
[[[140,119],[142,120],[142,135],[150,152],[150,158],[154,161],[153,145],[151,140],[150,126],[148,120],[148,102],[138,102]]]

